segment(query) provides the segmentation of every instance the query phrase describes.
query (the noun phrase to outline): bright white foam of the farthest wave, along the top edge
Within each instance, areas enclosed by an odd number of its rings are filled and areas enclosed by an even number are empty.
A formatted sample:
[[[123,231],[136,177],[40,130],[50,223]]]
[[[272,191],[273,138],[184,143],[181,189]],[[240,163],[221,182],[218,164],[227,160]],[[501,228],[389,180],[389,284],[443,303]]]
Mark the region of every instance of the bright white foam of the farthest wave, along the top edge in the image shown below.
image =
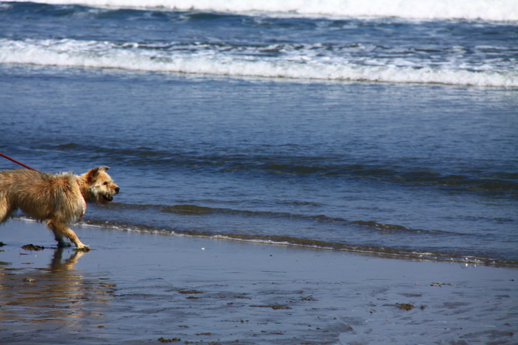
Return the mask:
[[[23,0],[22,0],[23,1]],[[82,4],[218,12],[277,12],[303,16],[401,17],[518,21],[516,0],[27,0],[47,4]]]

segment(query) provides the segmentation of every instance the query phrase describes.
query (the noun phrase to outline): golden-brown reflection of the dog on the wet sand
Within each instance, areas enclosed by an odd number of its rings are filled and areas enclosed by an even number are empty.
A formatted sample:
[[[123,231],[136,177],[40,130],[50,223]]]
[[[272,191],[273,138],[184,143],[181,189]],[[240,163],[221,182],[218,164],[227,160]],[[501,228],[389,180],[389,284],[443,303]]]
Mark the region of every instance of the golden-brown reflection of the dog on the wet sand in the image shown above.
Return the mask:
[[[71,255],[66,256],[68,253]],[[83,251],[57,248],[50,264],[44,268],[20,268],[2,263],[1,322],[14,328],[40,323],[38,327],[48,329],[73,327],[82,317],[101,316],[99,309],[109,303],[114,285],[102,279],[85,278],[75,268],[85,254],[88,255]]]

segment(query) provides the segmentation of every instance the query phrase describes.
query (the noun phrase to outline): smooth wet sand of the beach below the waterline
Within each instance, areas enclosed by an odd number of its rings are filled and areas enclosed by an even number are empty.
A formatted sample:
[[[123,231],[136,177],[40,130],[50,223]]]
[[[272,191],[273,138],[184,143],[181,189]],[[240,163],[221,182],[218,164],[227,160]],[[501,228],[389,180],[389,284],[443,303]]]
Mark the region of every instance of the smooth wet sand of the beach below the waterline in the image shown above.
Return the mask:
[[[0,343],[518,343],[514,268],[73,229],[0,227]]]

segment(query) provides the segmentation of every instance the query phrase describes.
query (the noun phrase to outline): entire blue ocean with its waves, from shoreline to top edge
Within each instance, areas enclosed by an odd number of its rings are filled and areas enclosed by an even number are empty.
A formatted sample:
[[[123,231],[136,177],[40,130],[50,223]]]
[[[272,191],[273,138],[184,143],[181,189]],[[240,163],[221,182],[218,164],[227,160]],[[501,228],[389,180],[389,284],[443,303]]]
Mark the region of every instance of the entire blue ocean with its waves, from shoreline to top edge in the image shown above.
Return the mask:
[[[516,2],[52,3],[0,3],[0,152],[110,166],[84,223],[518,266]]]

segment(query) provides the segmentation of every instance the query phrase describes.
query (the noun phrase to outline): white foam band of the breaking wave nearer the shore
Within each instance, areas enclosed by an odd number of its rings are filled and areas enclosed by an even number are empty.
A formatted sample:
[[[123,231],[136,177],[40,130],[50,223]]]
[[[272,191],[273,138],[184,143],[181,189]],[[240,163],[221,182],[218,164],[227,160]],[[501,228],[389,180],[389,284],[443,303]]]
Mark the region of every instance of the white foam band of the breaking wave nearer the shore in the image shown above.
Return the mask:
[[[0,40],[0,63],[205,74],[233,77],[351,80],[395,83],[440,83],[484,87],[518,87],[518,71],[479,70],[445,64],[414,66],[411,63],[349,62],[346,59],[313,60],[312,56],[287,55],[283,59],[251,59],[217,51],[200,53],[139,49],[136,44],[107,41]]]

